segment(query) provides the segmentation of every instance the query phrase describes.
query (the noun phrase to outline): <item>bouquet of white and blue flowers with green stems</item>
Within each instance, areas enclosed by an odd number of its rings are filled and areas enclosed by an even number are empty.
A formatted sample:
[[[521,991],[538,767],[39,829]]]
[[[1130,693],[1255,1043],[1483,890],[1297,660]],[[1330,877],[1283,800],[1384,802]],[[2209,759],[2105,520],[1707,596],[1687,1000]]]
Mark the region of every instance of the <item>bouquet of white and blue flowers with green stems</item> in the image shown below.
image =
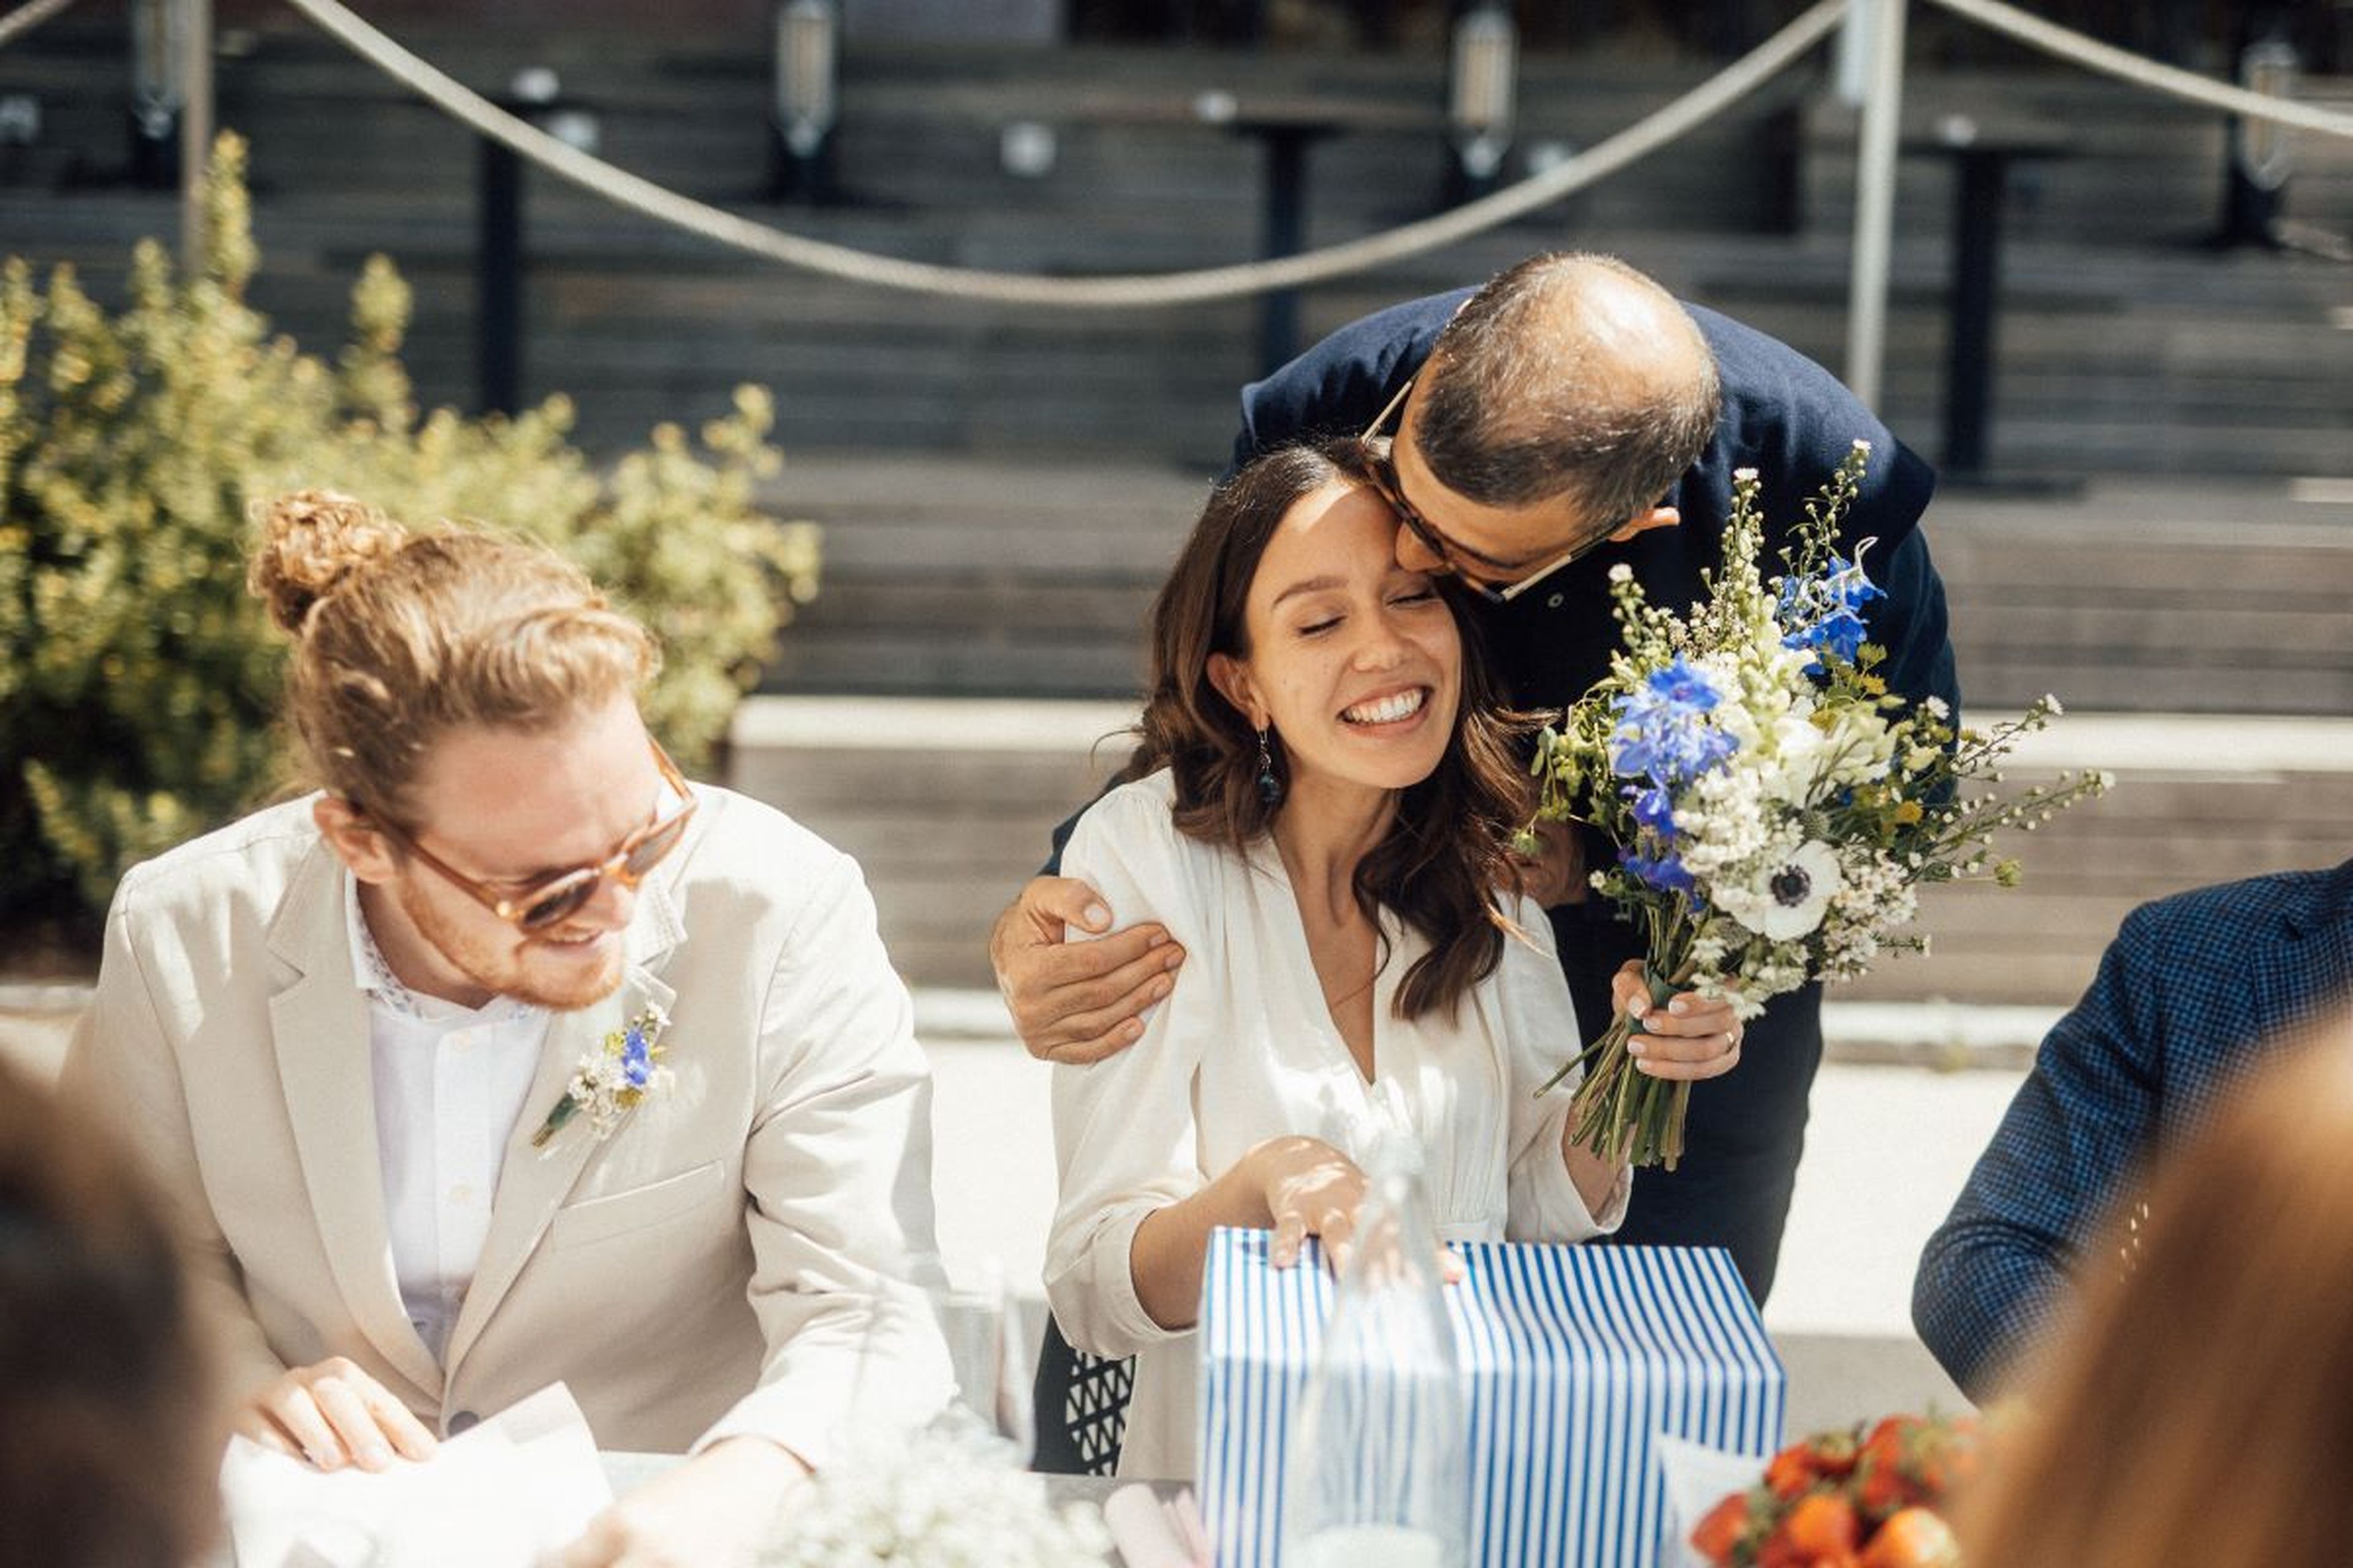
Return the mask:
[[[1649,604],[1633,571],[1614,567],[1626,644],[1539,741],[1537,816],[1588,823],[1617,844],[1593,886],[1640,922],[1657,1004],[1697,990],[1753,1018],[1807,980],[1861,976],[1882,950],[1925,950],[1925,936],[1901,931],[1918,884],[2017,884],[2017,863],[1993,860],[1986,837],[2033,830],[2108,783],[2087,771],[1960,797],[1965,780],[2000,783],[1993,764],[2049,724],[2059,701],[2045,696],[1991,733],[1955,733],[1941,701],[1911,708],[1887,691],[1887,656],[1864,639],[1864,607],[1882,597],[1864,571],[1873,541],[1854,559],[1838,555],[1868,458],[1871,444],[1854,442],[1807,503],[1781,576],[1758,569],[1753,468],[1734,475],[1722,564],[1687,616]],[[1631,1037],[1633,1020],[1614,1020],[1546,1088],[1584,1063],[1577,1140],[1673,1168],[1689,1084],[1635,1072]]]

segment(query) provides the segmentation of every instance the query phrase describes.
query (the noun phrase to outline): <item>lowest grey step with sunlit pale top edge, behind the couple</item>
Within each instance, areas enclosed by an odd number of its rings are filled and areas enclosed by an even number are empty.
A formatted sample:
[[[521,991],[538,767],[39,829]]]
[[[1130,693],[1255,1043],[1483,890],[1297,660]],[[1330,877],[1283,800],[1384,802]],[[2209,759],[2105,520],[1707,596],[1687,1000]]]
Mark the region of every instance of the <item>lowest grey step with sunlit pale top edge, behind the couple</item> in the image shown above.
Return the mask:
[[[986,990],[988,926],[1054,823],[1125,759],[1127,722],[1120,703],[751,698],[732,780],[859,858],[915,985]],[[2134,905],[2344,856],[2353,719],[2075,715],[2031,736],[2007,776],[2085,766],[2113,771],[2115,792],[2007,846],[2024,886],[1925,889],[1932,952],[1838,997],[2064,1006]]]

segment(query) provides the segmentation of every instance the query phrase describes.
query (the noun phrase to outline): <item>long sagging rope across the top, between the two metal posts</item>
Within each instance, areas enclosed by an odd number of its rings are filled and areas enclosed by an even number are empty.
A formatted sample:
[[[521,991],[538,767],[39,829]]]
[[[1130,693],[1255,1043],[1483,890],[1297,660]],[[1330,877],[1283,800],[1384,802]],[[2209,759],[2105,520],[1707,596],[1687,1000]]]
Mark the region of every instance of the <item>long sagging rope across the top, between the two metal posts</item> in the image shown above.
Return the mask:
[[[1699,87],[1617,132],[1607,141],[1598,141],[1544,174],[1532,174],[1506,190],[1466,202],[1452,212],[1438,214],[1435,219],[1405,223],[1402,228],[1367,235],[1365,240],[1301,252],[1278,261],[1249,261],[1191,273],[1042,277],[1035,273],[991,273],[934,266],[927,261],[901,261],[896,256],[878,256],[873,252],[859,252],[826,240],[809,240],[781,228],[753,223],[751,219],[739,219],[736,214],[711,207],[708,202],[696,202],[666,190],[647,179],[640,179],[638,174],[631,174],[628,169],[616,169],[600,158],[591,158],[579,148],[565,146],[536,125],[518,120],[440,68],[395,45],[391,38],[344,7],[341,0],[287,2],[327,31],[336,42],[412,92],[421,94],[442,113],[461,120],[482,136],[511,146],[515,153],[529,158],[551,174],[642,216],[685,228],[753,256],[781,261],[784,266],[809,273],[824,273],[828,277],[845,277],[849,282],[878,284],[885,289],[911,289],[948,299],[1064,308],[1153,308],[1266,294],[1268,289],[1294,289],[1299,284],[1327,282],[1332,277],[1346,277],[1348,273],[1362,273],[1407,256],[1442,249],[1558,202],[1572,190],[1581,190],[1598,179],[1617,174],[1638,158],[1645,158],[1675,136],[1682,136],[1694,125],[1701,125],[1786,71],[1807,49],[1821,42],[1821,38],[1838,26],[1847,9],[1847,0],[1817,0],[1812,9],[1767,38],[1751,54],[1725,66]]]

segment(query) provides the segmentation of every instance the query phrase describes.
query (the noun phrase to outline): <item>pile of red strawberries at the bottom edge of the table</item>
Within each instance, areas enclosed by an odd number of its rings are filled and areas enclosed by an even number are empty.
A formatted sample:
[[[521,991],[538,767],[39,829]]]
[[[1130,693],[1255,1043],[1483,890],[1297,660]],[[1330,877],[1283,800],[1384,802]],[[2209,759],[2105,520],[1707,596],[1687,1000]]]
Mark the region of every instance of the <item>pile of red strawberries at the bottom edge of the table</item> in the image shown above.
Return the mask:
[[[1981,1465],[1969,1415],[1889,1415],[1817,1432],[1711,1507],[1687,1537],[1706,1568],[1960,1568],[1944,1521]]]

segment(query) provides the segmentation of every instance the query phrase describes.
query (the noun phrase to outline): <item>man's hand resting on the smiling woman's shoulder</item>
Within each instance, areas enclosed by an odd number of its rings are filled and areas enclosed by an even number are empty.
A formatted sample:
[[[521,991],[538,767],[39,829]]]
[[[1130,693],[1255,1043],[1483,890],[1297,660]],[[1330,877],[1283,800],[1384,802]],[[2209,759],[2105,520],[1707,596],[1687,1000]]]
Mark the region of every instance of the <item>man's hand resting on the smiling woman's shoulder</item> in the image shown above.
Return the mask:
[[[1028,1053],[1099,1063],[1144,1034],[1144,1009],[1165,999],[1184,947],[1141,924],[1068,943],[1068,929],[1108,931],[1111,910],[1075,877],[1033,877],[988,933],[988,961]]]

